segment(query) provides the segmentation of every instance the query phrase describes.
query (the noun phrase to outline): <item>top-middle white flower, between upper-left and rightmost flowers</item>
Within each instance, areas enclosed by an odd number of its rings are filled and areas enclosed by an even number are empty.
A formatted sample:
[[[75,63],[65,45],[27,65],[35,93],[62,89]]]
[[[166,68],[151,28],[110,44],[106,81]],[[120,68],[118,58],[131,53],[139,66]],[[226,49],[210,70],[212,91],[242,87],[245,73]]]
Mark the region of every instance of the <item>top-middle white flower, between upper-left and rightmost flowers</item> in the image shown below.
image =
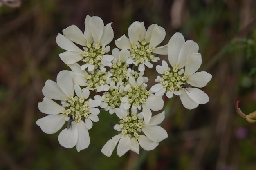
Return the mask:
[[[120,49],[130,50],[130,57],[127,60],[128,64],[139,65],[139,71],[145,70],[145,65],[152,68],[151,62],[157,62],[159,57],[155,54],[167,54],[167,45],[157,47],[165,37],[164,28],[157,24],[152,24],[146,28],[144,22],[133,22],[128,28],[128,36],[125,35],[118,38],[115,44]]]

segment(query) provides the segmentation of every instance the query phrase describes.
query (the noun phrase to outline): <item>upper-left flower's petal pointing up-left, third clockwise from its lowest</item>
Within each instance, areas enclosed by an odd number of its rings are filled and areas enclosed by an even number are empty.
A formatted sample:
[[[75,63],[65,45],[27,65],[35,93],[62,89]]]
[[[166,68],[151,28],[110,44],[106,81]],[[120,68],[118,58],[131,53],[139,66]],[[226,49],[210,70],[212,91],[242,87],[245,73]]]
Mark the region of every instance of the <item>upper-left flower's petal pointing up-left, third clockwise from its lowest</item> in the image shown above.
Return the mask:
[[[76,44],[79,44],[82,46],[86,45],[85,37],[82,31],[77,26],[71,25],[66,29],[63,29],[62,32],[63,32],[63,35],[65,35],[65,37],[75,42]]]

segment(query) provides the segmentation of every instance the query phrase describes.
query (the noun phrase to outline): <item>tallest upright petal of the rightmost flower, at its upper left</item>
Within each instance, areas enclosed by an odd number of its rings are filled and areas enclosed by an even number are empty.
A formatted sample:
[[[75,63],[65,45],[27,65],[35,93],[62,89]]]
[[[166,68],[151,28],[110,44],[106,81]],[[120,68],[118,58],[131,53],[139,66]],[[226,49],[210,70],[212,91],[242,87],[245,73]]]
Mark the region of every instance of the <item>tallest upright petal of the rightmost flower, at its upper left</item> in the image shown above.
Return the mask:
[[[172,67],[179,62],[179,53],[185,39],[181,33],[175,33],[168,42],[168,60]]]

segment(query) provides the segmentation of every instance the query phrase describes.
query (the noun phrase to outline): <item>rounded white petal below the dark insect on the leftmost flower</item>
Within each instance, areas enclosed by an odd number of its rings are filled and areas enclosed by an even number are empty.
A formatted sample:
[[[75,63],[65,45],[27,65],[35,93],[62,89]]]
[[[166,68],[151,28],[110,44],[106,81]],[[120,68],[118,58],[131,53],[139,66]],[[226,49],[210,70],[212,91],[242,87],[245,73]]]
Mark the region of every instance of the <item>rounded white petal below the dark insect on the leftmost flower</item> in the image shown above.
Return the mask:
[[[65,148],[73,148],[78,139],[77,123],[73,121],[72,129],[65,128],[58,135],[58,142]]]

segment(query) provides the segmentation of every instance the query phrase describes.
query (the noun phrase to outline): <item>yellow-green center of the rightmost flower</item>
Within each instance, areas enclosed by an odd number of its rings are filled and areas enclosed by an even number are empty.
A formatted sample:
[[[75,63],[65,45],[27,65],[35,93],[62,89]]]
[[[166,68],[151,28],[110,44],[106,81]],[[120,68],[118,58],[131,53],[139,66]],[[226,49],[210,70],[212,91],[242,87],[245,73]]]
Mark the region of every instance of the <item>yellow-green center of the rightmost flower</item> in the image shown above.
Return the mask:
[[[185,84],[186,77],[184,76],[184,69],[173,67],[164,71],[164,74],[159,78],[159,82],[166,88],[166,91],[179,91],[182,89],[182,84]]]

